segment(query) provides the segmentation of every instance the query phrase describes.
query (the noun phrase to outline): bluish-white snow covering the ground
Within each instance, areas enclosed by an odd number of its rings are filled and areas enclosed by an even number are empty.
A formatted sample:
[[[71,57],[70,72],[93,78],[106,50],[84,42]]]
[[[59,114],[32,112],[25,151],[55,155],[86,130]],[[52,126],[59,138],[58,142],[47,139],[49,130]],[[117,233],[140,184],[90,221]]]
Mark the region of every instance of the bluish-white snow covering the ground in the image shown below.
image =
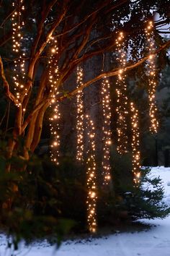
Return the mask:
[[[164,202],[170,205],[170,168],[153,167],[151,176],[160,176],[165,189]],[[47,242],[25,247],[22,243],[19,251],[6,249],[4,234],[0,235],[1,256],[169,256],[170,255],[170,216],[154,220],[140,220],[150,224],[151,229],[131,231],[103,236],[99,239],[82,239],[63,242],[55,251]]]

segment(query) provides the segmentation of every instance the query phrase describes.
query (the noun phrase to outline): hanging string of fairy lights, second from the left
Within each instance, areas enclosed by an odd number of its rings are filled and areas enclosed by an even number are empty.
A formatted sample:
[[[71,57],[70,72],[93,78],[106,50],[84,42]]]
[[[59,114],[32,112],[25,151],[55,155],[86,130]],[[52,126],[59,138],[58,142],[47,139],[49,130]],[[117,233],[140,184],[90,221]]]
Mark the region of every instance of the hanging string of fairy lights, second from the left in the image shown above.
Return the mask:
[[[58,80],[58,44],[57,40],[50,37],[50,44],[53,46],[50,48],[50,59],[48,61],[49,64],[49,84],[50,84],[50,95],[51,95],[51,104],[50,107],[53,107],[53,115],[50,117],[50,134],[53,137],[53,141],[50,145],[50,158],[51,161],[55,162],[57,165],[59,164],[59,147],[60,147],[60,124],[59,120],[61,118],[61,114],[58,109],[58,103],[55,101],[56,95],[58,95],[57,91],[57,80]]]

